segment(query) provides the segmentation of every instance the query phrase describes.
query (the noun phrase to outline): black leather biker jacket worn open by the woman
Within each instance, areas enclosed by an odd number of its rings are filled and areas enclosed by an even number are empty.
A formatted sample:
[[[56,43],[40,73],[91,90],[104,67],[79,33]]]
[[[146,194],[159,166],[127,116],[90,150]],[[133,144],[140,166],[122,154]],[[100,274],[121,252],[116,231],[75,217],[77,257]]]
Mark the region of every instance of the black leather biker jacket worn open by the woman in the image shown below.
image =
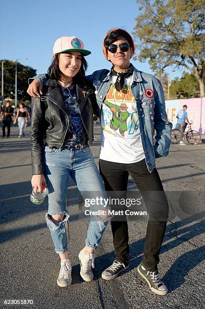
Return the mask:
[[[76,85],[80,116],[92,145],[93,114],[99,116],[95,89],[88,83]],[[69,130],[69,116],[56,80],[49,79],[40,98],[32,97],[31,157],[32,174],[44,174],[43,145],[60,148]]]

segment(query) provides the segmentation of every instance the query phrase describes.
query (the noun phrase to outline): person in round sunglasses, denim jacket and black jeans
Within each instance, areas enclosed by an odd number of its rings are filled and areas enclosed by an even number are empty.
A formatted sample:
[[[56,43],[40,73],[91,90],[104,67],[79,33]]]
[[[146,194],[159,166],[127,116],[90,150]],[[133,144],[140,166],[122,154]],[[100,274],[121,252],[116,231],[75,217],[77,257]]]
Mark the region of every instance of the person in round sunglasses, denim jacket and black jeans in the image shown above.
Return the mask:
[[[168,289],[160,279],[158,264],[169,207],[155,166],[156,158],[168,155],[171,142],[172,124],[167,120],[163,87],[153,75],[130,63],[134,42],[124,29],[107,32],[103,52],[112,64],[110,71],[102,69],[87,76],[95,86],[101,113],[100,173],[106,190],[113,196],[124,197],[129,175],[142,194],[150,216],[138,272],[154,293],[165,295]],[[45,80],[45,75],[35,76],[27,92],[39,96]],[[116,278],[129,267],[126,216],[114,216],[111,229],[115,260],[103,271],[105,280]]]

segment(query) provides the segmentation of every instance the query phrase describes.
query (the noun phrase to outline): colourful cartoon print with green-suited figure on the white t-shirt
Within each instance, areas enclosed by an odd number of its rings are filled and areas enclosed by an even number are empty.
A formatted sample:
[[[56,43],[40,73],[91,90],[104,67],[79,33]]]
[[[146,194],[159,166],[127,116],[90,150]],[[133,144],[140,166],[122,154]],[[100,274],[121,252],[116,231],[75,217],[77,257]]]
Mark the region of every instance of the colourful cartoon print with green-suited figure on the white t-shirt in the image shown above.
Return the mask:
[[[114,84],[111,84],[103,104],[103,118],[102,129],[107,133],[133,137],[139,129],[139,117],[130,85],[125,84],[120,91],[117,91]]]

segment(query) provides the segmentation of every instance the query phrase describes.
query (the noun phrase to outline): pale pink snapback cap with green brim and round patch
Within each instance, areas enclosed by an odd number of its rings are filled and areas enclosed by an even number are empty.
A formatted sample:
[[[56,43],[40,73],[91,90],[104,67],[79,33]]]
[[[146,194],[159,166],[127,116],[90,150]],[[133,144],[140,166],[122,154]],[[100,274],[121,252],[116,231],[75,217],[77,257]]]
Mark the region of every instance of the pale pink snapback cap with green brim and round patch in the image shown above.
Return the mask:
[[[84,43],[76,36],[61,36],[53,46],[53,54],[66,52],[79,52],[83,56],[91,54],[90,50],[84,49]]]

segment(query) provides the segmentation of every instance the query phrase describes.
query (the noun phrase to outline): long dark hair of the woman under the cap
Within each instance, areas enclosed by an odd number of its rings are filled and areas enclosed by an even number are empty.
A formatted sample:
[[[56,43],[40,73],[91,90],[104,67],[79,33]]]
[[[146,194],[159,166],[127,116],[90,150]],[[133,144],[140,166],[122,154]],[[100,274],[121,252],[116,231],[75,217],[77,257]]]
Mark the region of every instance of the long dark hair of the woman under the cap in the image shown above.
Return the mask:
[[[66,54],[69,54],[69,53],[66,53]],[[76,76],[74,76],[73,78],[73,82],[75,84],[81,83],[82,81],[85,80],[85,76],[86,76],[85,72],[88,68],[88,63],[85,60],[85,57],[83,55],[81,56],[81,59],[82,59],[81,68],[79,72],[76,74]],[[56,80],[60,79],[61,71],[59,69],[59,53],[55,55],[50,67],[48,68],[48,75],[51,79],[56,79]]]

